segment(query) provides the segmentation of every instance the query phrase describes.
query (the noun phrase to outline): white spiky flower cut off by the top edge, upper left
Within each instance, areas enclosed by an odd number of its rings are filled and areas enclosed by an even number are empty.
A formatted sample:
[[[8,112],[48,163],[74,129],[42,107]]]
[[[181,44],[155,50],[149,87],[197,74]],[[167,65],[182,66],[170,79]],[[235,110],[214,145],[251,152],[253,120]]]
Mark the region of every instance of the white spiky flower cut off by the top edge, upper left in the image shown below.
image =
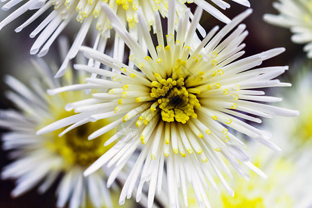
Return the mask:
[[[207,10],[207,12],[209,12],[211,15],[214,15],[214,17],[220,19],[220,21],[224,21],[225,23],[230,21],[229,18],[223,15],[223,13],[218,9],[214,8],[214,6],[211,6],[211,4],[209,4],[207,1],[175,1],[175,12],[177,13],[177,17],[180,17],[183,12],[187,10],[185,3],[196,3]],[[248,0],[232,1],[240,3],[243,6],[250,6]],[[21,26],[15,29],[16,32],[19,32],[35,21],[38,17],[42,16],[44,12],[50,8],[54,8],[54,10],[48,16],[46,16],[44,21],[42,21],[42,23],[37,26],[37,28],[35,28],[33,33],[30,35],[32,38],[38,36],[31,48],[31,54],[38,53],[38,56],[43,56],[48,53],[51,44],[53,44],[63,29],[66,28],[68,24],[72,24],[71,20],[76,18],[76,20],[81,23],[80,31],[78,32],[78,35],[73,42],[73,45],[71,46],[71,50],[60,67],[60,71],[58,71],[56,74],[56,76],[59,77],[65,73],[69,60],[77,55],[81,44],[83,44],[83,41],[85,40],[85,37],[91,28],[95,27],[98,30],[98,35],[94,42],[94,49],[105,51],[106,40],[107,37],[110,37],[111,26],[101,8],[101,4],[103,2],[110,5],[116,15],[118,15],[121,21],[123,21],[123,24],[128,23],[129,31],[132,33],[133,37],[139,37],[139,33],[137,31],[137,8],[139,8],[139,6],[143,8],[144,16],[148,20],[148,24],[150,26],[155,27],[153,12],[159,11],[163,17],[167,17],[168,15],[168,0],[28,0],[22,6],[17,8],[15,12],[12,12],[12,14],[8,15],[6,19],[3,19],[0,22],[0,30],[3,28],[3,26],[6,26],[10,23],[10,21],[13,21],[17,17],[23,15],[28,10],[37,10],[32,17],[24,22],[24,24],[21,24]],[[212,2],[214,2],[216,6],[222,9],[229,8],[229,3],[223,0],[213,0]],[[20,3],[20,1],[10,0],[2,7],[2,9],[9,10],[18,3]],[[95,21],[96,26],[92,26],[92,22]],[[200,31],[203,30],[201,29]],[[122,61],[123,43],[121,40],[119,40],[118,37],[115,37],[114,48],[114,58],[118,58],[118,60]]]

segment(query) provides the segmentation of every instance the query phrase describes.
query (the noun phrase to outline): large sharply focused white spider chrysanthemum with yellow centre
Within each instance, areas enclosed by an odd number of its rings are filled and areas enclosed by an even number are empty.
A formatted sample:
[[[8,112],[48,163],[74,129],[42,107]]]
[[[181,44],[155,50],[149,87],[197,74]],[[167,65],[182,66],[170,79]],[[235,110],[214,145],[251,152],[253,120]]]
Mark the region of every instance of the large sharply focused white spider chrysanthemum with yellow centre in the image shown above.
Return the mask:
[[[255,102],[281,101],[281,98],[263,96],[264,92],[256,90],[257,88],[284,87],[290,84],[274,79],[288,67],[257,67],[264,60],[282,53],[283,48],[239,59],[244,54],[241,50],[245,44],[242,42],[248,35],[245,25],[240,23],[252,10],[235,17],[219,32],[216,26],[200,41],[195,33],[202,9],[197,8],[193,21],[189,24],[188,10],[178,21],[177,33],[173,35],[175,2],[170,3],[165,40],[161,19],[155,13],[157,46],[148,33],[143,11],[138,9],[139,31],[150,56],[132,39],[114,11],[103,5],[114,30],[132,51],[130,60],[137,68],[133,69],[94,49],[82,47],[87,58],[98,60],[117,72],[76,64],[76,69],[96,73],[104,78],[86,78],[86,84],[51,89],[49,94],[98,88],[107,89],[107,92],[93,94],[93,98],[85,101],[70,103],[67,109],[74,109],[79,114],[52,123],[37,133],[42,135],[67,125],[70,125],[68,129],[71,130],[89,121],[98,122],[116,116],[112,123],[89,135],[89,139],[95,139],[112,128],[124,125],[124,128],[105,142],[105,145],[109,145],[118,139],[117,144],[94,162],[85,171],[85,175],[93,173],[104,164],[113,167],[114,171],[108,179],[110,186],[128,157],[135,150],[141,149],[123,186],[120,204],[125,202],[125,198],[132,196],[132,189],[137,186],[136,200],[139,201],[143,185],[149,182],[148,207],[151,207],[156,190],[157,193],[162,191],[163,178],[166,178],[164,189],[168,189],[171,207],[179,206],[177,196],[180,189],[184,204],[188,204],[188,183],[192,184],[200,207],[210,207],[205,189],[209,187],[209,181],[218,191],[213,174],[234,195],[220,172],[224,170],[232,177],[223,159],[228,160],[247,180],[249,176],[243,173],[241,164],[264,175],[250,163],[245,153],[245,144],[228,129],[242,132],[273,150],[279,150],[270,141],[269,132],[254,128],[245,120],[261,123],[257,116],[272,118],[272,115],[296,116],[299,113]]]

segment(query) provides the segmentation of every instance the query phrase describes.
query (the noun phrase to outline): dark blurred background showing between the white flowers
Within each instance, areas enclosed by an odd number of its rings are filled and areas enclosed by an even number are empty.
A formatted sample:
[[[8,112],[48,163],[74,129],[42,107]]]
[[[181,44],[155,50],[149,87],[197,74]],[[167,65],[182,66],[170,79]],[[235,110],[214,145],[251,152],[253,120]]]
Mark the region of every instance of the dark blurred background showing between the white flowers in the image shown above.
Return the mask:
[[[260,53],[262,51],[267,51],[275,47],[286,47],[286,52],[263,62],[263,66],[277,66],[277,65],[290,65],[291,69],[281,76],[283,81],[291,81],[293,75],[297,71],[297,66],[293,64],[294,60],[299,60],[299,62],[306,62],[306,56],[302,51],[302,46],[293,44],[291,42],[291,33],[284,28],[277,28],[266,24],[262,20],[264,13],[274,13],[277,12],[272,8],[272,0],[250,0],[251,7],[254,12],[248,19],[244,21],[247,25],[249,35],[244,41],[247,46],[245,51],[247,55],[254,55],[255,53]],[[0,3],[3,6],[4,3]],[[240,6],[237,3],[230,2],[232,8],[223,11],[229,18],[233,18],[246,8]],[[13,8],[12,10],[14,10]],[[3,19],[9,12],[0,10],[0,19]],[[8,26],[4,27],[0,33],[0,80],[3,80],[5,74],[12,74],[13,76],[19,78],[20,80],[28,80],[29,77],[33,76],[33,71],[29,70],[28,60],[34,58],[33,55],[28,55],[29,50],[34,42],[33,39],[29,38],[28,35],[35,29],[35,27],[40,24],[38,19],[30,26],[26,27],[21,33],[15,33],[14,29],[25,21],[27,17],[30,17],[31,12],[26,15],[19,17],[19,19],[13,21]],[[220,21],[214,19],[204,12],[202,20],[200,21],[202,26],[206,30],[211,29],[215,25],[223,26]],[[75,26],[79,24],[77,22],[73,23]],[[65,30],[65,33],[72,37],[71,31]],[[57,44],[53,44],[48,55],[44,58],[45,60],[54,60],[60,65],[60,62],[55,58],[57,54],[56,49]],[[54,54],[54,55],[53,55]],[[12,103],[6,100],[3,96],[3,92],[7,89],[6,85],[1,82],[0,84],[0,108],[6,109],[12,107]],[[286,89],[285,89],[286,90]],[[7,153],[0,151],[0,168],[9,164]],[[16,199],[10,198],[10,191],[14,187],[12,181],[0,180],[0,207],[2,208],[12,208],[12,207],[55,207],[55,187],[56,184],[43,196],[38,196],[36,189],[29,191],[24,196]]]

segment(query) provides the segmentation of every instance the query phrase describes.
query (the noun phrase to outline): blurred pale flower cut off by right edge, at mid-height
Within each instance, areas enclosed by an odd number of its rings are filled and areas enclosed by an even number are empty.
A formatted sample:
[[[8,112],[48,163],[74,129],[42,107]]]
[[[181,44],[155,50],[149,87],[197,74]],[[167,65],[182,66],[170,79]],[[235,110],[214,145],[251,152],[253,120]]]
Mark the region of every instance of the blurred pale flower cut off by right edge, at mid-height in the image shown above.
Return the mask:
[[[273,136],[279,139],[284,152],[297,151],[297,154],[300,154],[301,150],[312,148],[312,73],[311,67],[307,65],[298,68],[300,70],[293,78],[293,87],[282,95],[285,101],[283,103],[300,110],[300,116],[294,119],[278,118],[277,122],[270,122],[268,125],[272,129]]]

